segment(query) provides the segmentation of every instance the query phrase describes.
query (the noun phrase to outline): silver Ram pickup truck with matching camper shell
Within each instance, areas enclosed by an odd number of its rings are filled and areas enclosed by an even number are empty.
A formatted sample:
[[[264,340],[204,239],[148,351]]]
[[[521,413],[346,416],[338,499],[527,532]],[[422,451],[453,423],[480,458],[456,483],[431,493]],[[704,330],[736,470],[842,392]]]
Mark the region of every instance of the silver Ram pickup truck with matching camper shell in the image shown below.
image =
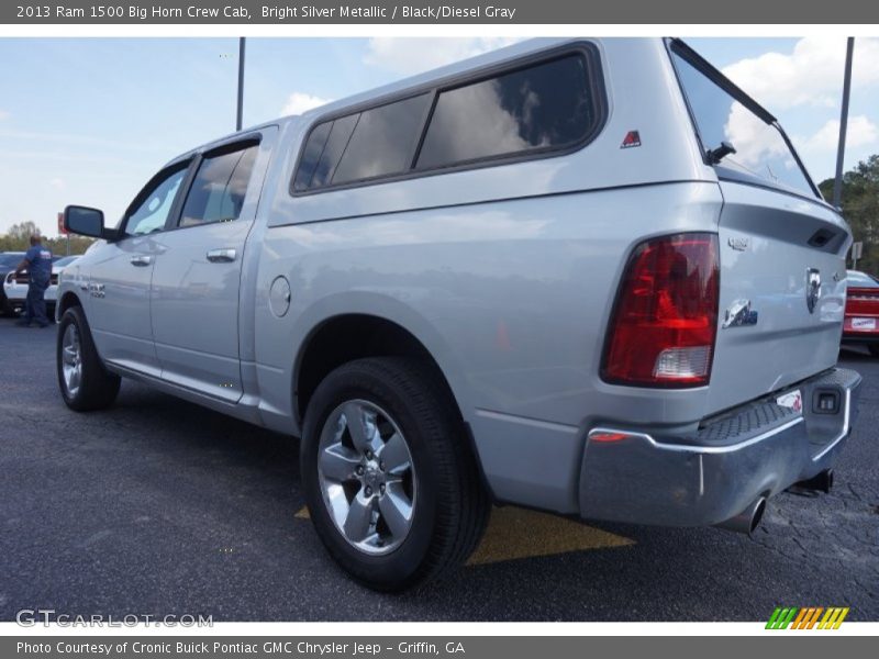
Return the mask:
[[[170,161],[65,270],[58,382],[301,437],[314,527],[376,589],[492,503],[749,533],[828,490],[850,232],[775,118],[678,40],[538,40]]]

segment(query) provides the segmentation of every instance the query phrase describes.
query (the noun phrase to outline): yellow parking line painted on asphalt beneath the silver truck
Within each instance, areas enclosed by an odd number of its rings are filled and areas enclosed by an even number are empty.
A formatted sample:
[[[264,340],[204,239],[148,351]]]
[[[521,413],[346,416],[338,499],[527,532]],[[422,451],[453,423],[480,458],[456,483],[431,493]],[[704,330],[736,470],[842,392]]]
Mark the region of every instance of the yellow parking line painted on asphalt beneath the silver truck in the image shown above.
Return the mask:
[[[297,520],[311,518],[309,509],[304,505],[294,516]],[[483,566],[537,556],[627,547],[634,544],[635,540],[631,538],[579,522],[504,506],[492,509],[491,521],[482,543],[474,551],[467,565]]]

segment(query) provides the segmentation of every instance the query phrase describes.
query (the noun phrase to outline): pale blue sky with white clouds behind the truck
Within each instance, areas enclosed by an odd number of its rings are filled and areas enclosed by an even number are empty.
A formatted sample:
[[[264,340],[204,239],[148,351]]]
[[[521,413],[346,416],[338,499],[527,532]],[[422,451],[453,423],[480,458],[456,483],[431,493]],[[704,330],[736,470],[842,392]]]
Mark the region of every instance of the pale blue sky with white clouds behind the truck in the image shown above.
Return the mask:
[[[487,38],[247,40],[244,125],[502,47]],[[834,175],[845,40],[690,38]],[[68,203],[114,224],[167,160],[234,131],[236,38],[0,38],[0,233],[57,234]],[[879,40],[858,38],[846,168],[879,153]]]

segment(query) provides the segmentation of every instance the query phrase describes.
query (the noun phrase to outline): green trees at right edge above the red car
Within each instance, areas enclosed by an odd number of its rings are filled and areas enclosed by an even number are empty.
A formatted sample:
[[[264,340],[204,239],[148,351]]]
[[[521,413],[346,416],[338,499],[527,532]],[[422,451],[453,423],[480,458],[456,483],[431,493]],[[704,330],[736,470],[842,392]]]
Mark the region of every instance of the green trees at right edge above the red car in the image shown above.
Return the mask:
[[[833,199],[833,179],[819,185],[825,199]],[[864,242],[858,270],[879,275],[879,154],[861,160],[843,175],[843,215],[855,241]],[[852,259],[848,259],[849,267]]]

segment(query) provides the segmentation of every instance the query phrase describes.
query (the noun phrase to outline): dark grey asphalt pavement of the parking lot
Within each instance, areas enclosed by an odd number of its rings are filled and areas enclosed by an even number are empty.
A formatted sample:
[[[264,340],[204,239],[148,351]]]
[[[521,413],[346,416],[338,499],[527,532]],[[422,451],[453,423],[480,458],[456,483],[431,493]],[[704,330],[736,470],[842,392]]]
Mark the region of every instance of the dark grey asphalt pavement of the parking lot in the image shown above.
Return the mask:
[[[0,319],[0,621],[765,621],[776,606],[879,619],[879,359],[831,494],[770,500],[753,539],[716,528],[580,525],[499,509],[470,565],[379,595],[329,558],[303,509],[296,439],[123,381],[77,414],[54,328]]]

